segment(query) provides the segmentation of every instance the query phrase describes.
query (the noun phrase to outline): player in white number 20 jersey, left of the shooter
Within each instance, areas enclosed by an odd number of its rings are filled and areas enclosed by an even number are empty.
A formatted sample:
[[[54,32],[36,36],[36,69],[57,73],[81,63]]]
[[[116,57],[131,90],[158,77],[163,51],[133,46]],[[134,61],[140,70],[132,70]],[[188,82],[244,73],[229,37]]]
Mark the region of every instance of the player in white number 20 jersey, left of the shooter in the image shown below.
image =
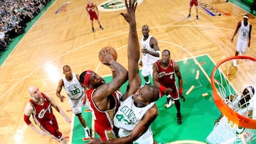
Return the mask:
[[[60,92],[62,87],[64,87],[72,112],[75,116],[78,116],[80,123],[85,128],[85,138],[90,138],[90,128],[86,126],[85,119],[82,117],[82,100],[85,96],[85,90],[79,82],[79,75],[73,74],[68,65],[63,66],[63,74],[65,74],[65,76],[60,79],[58,83],[56,95],[60,98],[60,101],[63,102],[65,96],[61,95]]]

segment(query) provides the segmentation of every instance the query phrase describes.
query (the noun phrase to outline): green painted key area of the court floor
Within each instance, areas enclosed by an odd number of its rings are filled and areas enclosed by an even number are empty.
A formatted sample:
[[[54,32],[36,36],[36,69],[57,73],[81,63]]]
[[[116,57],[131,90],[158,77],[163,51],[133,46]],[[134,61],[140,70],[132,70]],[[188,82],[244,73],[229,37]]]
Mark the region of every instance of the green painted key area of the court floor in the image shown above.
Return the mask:
[[[151,124],[151,130],[154,133],[154,140],[159,143],[206,143],[206,137],[213,130],[215,119],[220,116],[220,111],[213,101],[212,87],[210,84],[210,76],[215,62],[209,55],[199,55],[190,57],[186,60],[178,60],[181,73],[183,74],[183,92],[186,101],[181,101],[181,113],[183,123],[177,124],[176,108],[174,104],[171,108],[166,109],[166,97],[159,99],[156,105],[159,109],[159,116]],[[232,70],[232,74],[237,71]],[[223,75],[226,75],[223,72]],[[235,77],[231,74],[229,77]],[[110,82],[112,77],[105,77],[106,82]],[[193,89],[191,89],[193,87]],[[126,84],[122,86],[120,91],[125,92]],[[234,91],[234,90],[233,90]],[[90,111],[83,108],[86,123],[92,123]],[[80,126],[78,118],[73,123],[73,138],[70,143],[85,143],[90,140],[84,139],[84,130]],[[94,133],[97,138],[96,133]],[[256,143],[256,140],[252,140]]]

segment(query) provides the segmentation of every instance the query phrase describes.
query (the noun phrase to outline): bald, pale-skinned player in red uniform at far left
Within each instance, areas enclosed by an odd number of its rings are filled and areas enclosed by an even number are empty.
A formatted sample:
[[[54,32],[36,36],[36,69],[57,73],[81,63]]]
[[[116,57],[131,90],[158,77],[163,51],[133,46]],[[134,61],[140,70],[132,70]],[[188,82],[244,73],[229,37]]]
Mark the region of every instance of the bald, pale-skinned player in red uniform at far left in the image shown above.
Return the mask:
[[[48,134],[60,143],[67,143],[65,137],[58,129],[58,122],[53,114],[51,106],[53,106],[68,123],[71,122],[70,118],[68,118],[49,94],[40,92],[36,86],[29,87],[28,93],[31,94],[32,98],[28,101],[28,104],[26,104],[24,111],[24,121],[26,124],[42,136]],[[33,123],[31,123],[29,120],[31,115],[33,116],[36,125],[38,125],[42,131],[38,130]]]

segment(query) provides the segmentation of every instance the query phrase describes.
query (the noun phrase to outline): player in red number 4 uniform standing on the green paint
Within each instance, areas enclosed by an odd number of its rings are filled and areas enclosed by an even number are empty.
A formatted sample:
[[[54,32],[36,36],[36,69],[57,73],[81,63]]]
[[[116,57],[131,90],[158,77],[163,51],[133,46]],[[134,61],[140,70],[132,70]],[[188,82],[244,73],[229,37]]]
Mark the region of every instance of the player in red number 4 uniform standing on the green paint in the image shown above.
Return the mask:
[[[178,87],[176,86],[175,74],[178,77]],[[178,64],[171,60],[171,53],[169,50],[164,50],[161,55],[161,60],[154,63],[153,67],[153,82],[156,87],[159,88],[161,96],[166,94],[167,104],[166,107],[169,108],[171,104],[169,101],[171,99],[175,102],[175,107],[177,109],[177,119],[178,124],[182,123],[181,118],[181,103],[179,101],[179,96],[185,101],[183,96],[183,79],[181,77],[181,72],[179,70]]]

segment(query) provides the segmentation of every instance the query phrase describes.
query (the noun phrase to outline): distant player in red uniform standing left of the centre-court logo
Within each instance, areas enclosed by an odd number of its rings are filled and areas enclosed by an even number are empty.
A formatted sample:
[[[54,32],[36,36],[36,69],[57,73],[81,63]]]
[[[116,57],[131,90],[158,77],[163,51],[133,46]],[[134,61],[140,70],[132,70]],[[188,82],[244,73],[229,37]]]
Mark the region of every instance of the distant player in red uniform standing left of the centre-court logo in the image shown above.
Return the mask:
[[[92,33],[95,32],[95,29],[93,28],[93,19],[99,23],[100,29],[103,30],[101,24],[100,24],[100,19],[99,19],[99,10],[97,9],[97,6],[92,3],[91,0],[88,0],[87,6],[86,6],[86,11],[87,15],[90,16],[90,23],[92,25]]]

